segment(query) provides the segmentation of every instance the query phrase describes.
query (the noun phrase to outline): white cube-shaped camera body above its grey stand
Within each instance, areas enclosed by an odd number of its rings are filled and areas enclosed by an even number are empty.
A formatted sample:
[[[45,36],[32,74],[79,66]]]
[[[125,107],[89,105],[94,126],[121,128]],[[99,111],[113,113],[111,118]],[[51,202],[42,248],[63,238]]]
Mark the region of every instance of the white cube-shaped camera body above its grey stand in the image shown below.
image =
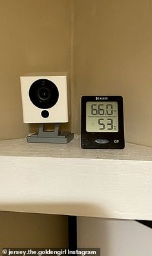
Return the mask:
[[[67,73],[20,77],[24,123],[67,123]]]

